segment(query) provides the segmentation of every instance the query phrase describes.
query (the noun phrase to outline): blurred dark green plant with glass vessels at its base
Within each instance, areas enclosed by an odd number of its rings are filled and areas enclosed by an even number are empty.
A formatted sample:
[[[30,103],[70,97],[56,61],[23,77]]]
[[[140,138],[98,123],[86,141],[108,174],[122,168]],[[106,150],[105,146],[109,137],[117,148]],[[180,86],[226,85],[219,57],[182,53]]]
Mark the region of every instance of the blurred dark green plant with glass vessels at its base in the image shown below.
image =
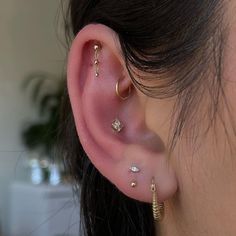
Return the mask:
[[[35,183],[41,182],[40,168],[43,169],[43,179],[53,182],[50,178],[54,174],[55,183],[55,178],[59,178],[56,176],[55,168],[60,167],[60,171],[63,172],[62,162],[55,158],[54,148],[59,131],[59,110],[64,85],[65,80],[44,72],[28,75],[23,83],[23,89],[29,92],[39,117],[37,121],[27,122],[22,131],[24,146],[39,156],[30,161],[32,171],[37,170],[35,173],[38,173],[37,177],[34,173]]]

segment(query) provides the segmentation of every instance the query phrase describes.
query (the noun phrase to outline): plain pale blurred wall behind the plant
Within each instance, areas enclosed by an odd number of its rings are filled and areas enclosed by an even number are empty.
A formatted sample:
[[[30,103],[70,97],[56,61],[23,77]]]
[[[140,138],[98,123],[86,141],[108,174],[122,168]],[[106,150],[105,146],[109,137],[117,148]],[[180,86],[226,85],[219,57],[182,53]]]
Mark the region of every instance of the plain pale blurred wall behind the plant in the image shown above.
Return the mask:
[[[32,71],[61,74],[64,53],[56,37],[60,0],[0,0],[0,221],[5,231],[9,184],[22,158],[20,130],[33,116],[20,86]]]

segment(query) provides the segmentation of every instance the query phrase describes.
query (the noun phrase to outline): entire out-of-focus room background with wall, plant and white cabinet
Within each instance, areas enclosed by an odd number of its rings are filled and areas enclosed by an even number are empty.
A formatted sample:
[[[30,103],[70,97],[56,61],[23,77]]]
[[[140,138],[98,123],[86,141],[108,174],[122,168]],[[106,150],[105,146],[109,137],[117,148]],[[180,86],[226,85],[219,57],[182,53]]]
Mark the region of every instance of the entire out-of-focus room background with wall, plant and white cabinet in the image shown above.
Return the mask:
[[[0,0],[2,236],[79,232],[69,176],[53,155],[66,65],[60,8],[60,0]]]

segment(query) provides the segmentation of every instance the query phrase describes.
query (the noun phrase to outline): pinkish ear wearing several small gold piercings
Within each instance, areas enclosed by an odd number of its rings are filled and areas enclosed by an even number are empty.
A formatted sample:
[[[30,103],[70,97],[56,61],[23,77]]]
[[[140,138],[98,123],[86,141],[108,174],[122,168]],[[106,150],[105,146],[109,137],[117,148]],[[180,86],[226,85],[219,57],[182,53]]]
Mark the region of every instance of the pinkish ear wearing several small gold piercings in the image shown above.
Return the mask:
[[[121,96],[129,95],[126,100],[116,94],[118,81]],[[90,24],[78,33],[69,53],[68,90],[81,144],[100,173],[131,198],[151,202],[153,177],[159,200],[171,197],[177,188],[174,171],[162,141],[146,127],[146,96],[133,86],[118,37],[110,28]],[[120,132],[111,127],[115,118],[123,124]],[[133,165],[140,172],[130,171]],[[132,181],[136,187],[131,187]]]

